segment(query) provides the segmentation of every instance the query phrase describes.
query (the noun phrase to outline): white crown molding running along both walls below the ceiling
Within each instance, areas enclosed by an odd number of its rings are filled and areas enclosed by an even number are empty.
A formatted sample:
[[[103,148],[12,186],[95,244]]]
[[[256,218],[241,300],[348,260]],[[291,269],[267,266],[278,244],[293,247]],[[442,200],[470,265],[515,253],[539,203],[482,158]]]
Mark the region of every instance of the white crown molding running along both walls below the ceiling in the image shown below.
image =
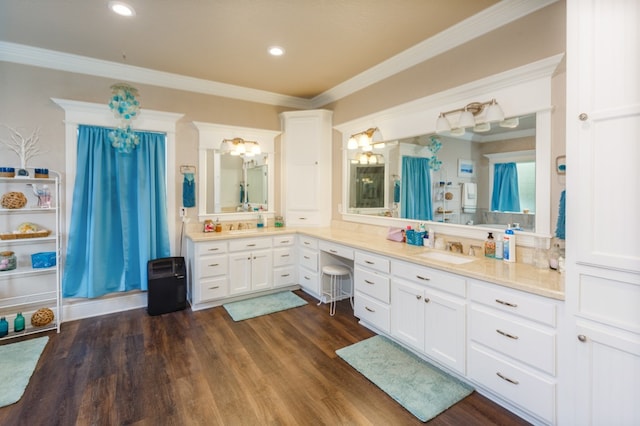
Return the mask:
[[[150,84],[268,105],[314,109],[344,98],[556,1],[503,0],[379,63],[369,70],[334,86],[311,100],[6,41],[0,41],[0,61],[125,80],[132,83]]]

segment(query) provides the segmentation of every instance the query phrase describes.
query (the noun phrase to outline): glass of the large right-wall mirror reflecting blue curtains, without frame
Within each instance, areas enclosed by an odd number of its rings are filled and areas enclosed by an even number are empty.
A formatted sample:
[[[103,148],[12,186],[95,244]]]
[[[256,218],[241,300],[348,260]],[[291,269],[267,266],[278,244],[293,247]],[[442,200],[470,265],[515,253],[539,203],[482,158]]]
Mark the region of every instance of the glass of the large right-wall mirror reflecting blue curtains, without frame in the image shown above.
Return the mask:
[[[349,213],[535,232],[536,117],[348,151]],[[454,134],[452,134],[454,133]]]

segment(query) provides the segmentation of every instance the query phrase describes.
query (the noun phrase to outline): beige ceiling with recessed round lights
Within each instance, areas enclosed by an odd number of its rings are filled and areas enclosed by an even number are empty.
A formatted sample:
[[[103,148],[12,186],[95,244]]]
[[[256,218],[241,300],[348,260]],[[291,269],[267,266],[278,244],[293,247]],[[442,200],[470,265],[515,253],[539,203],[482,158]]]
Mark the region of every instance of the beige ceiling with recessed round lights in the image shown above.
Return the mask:
[[[136,16],[115,15],[107,0],[2,0],[0,43],[312,99],[473,15],[525,7],[525,0],[128,3]],[[272,45],[285,55],[270,56]]]

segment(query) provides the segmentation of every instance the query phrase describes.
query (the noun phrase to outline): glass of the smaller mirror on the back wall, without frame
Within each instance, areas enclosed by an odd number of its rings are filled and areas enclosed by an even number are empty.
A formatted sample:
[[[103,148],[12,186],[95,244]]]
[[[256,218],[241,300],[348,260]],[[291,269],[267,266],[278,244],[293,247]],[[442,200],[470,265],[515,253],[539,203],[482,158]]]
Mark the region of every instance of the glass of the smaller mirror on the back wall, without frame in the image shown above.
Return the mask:
[[[206,213],[268,209],[268,154],[246,157],[208,149],[206,155]]]

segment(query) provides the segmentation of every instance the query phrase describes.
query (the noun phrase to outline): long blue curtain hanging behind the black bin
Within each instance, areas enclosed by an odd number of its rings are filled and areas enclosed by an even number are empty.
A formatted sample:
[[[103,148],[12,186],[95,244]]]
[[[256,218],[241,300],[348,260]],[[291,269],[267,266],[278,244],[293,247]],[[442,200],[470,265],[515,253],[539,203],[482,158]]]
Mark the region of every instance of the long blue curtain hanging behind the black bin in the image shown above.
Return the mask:
[[[136,132],[129,154],[111,129],[79,126],[64,297],[147,289],[147,261],[170,255],[164,134]]]

